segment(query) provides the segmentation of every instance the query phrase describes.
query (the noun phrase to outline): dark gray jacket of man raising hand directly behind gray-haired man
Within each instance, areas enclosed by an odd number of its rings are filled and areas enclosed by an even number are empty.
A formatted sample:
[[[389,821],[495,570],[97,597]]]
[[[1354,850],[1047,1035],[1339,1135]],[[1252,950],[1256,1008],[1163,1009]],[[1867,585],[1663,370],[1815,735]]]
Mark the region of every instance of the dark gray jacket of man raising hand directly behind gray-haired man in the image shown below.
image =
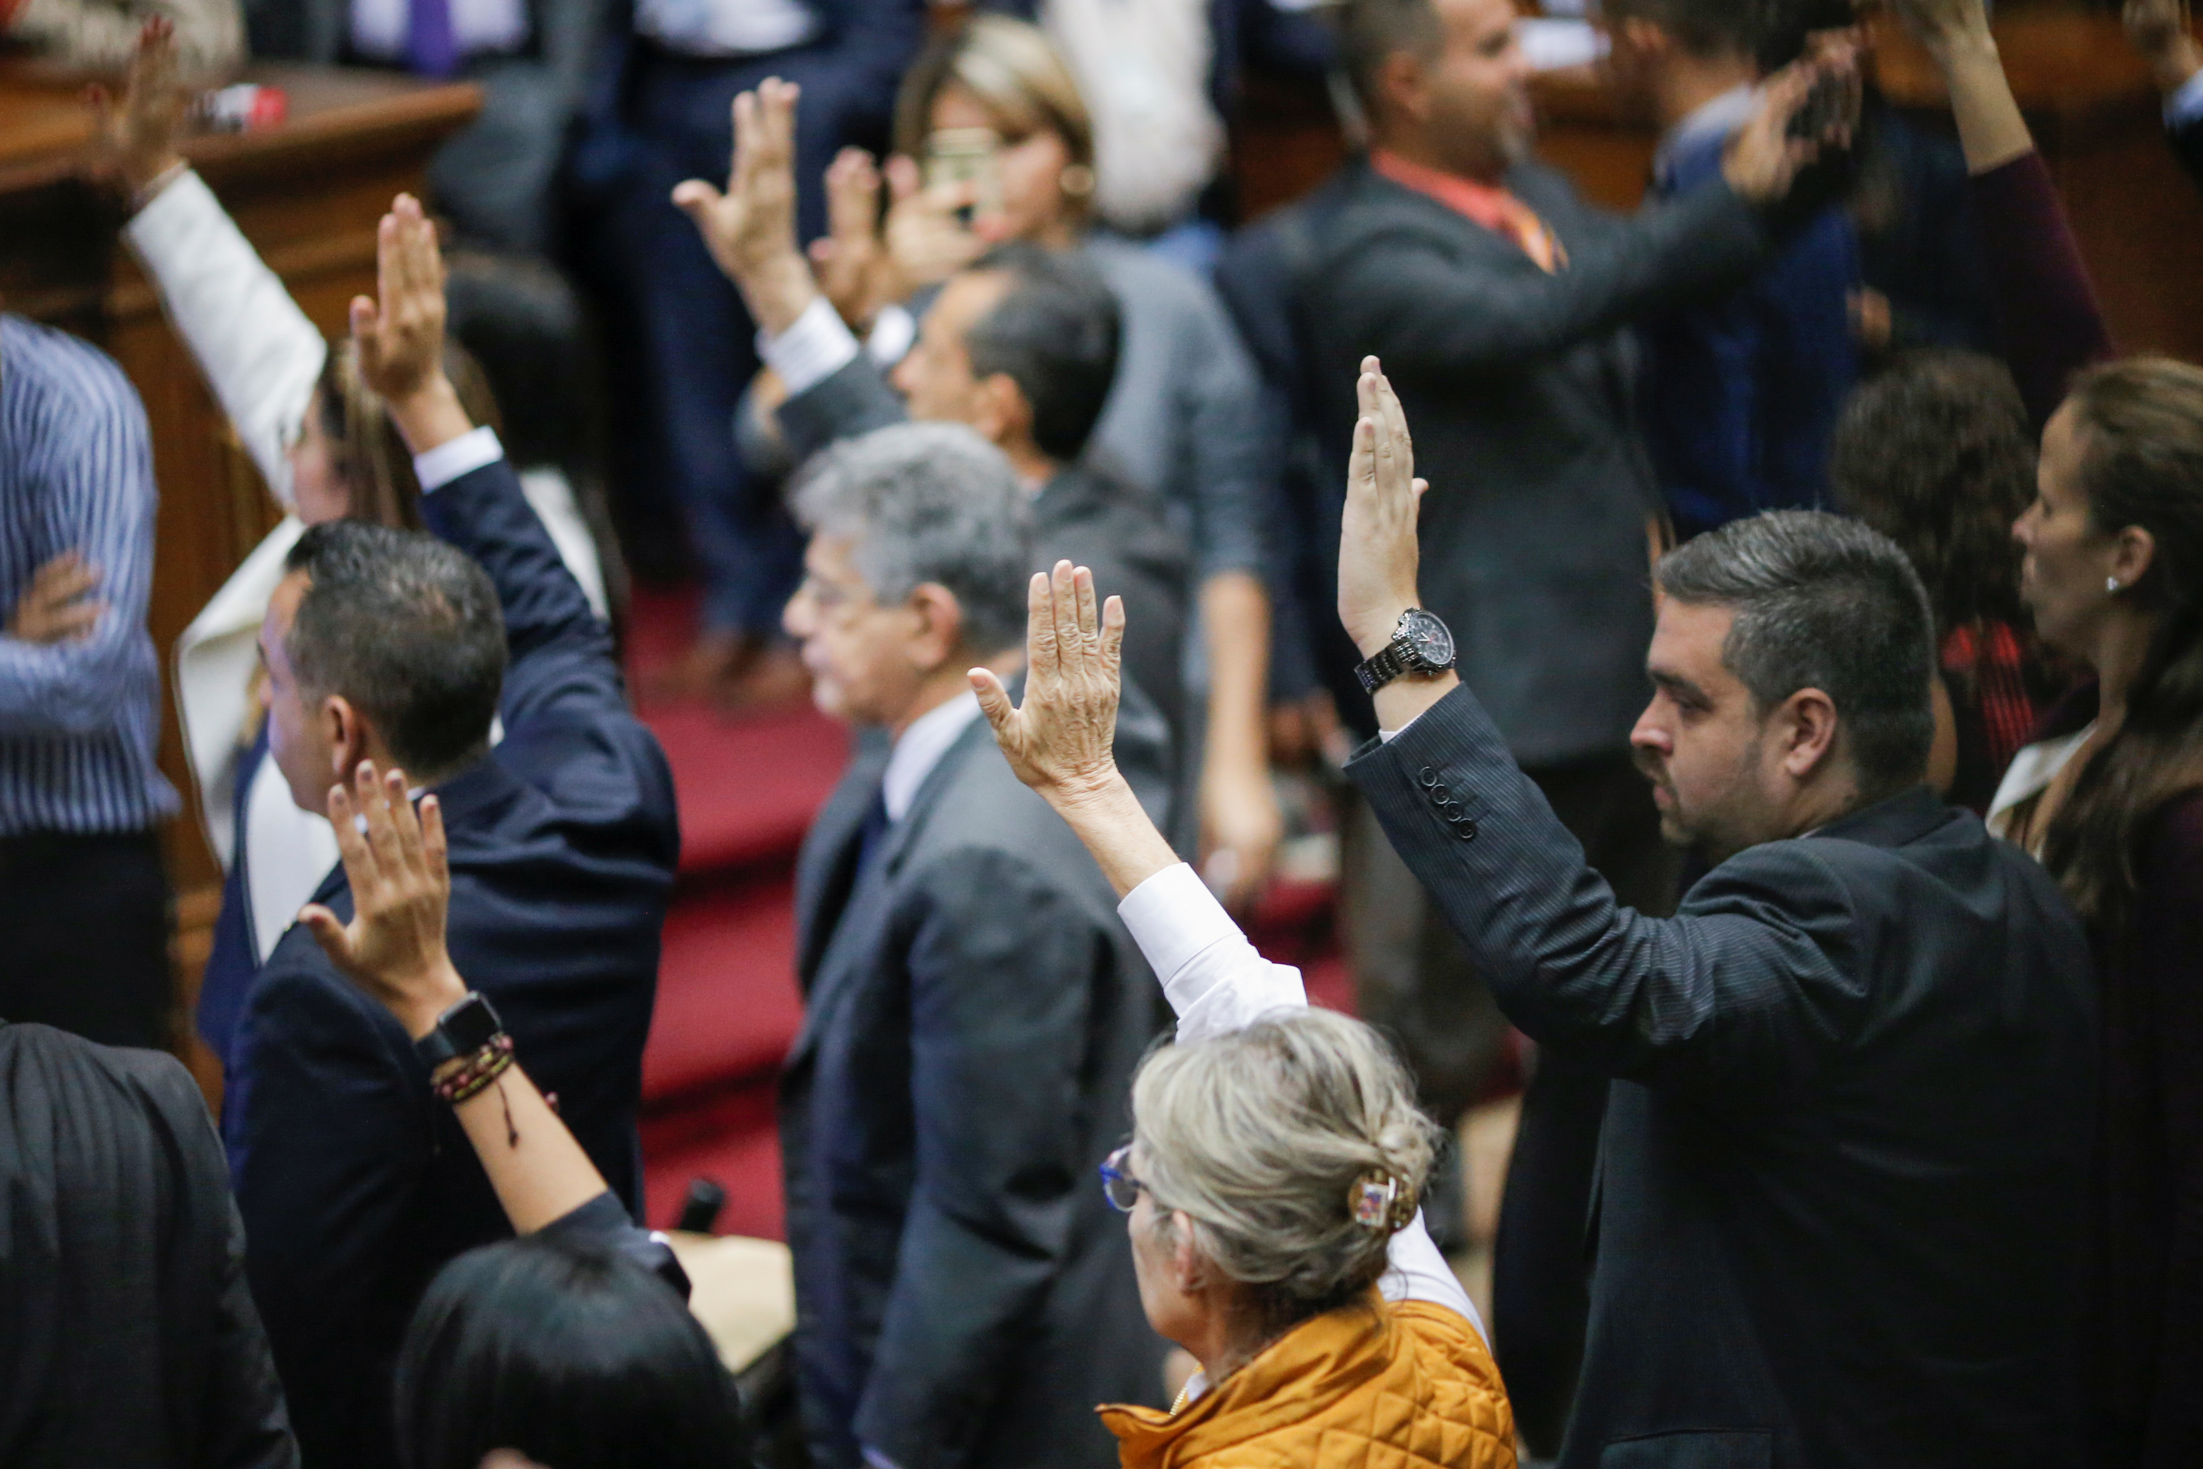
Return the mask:
[[[780,405],[789,454],[804,463],[837,438],[905,423],[903,399],[861,352],[833,377]],[[1095,588],[1124,597],[1124,672],[1176,736],[1185,729],[1185,625],[1194,564],[1170,529],[1161,496],[1086,460],[1064,465],[1033,498],[1038,570],[1060,559],[1095,573]],[[1183,762],[1181,762],[1183,764]],[[1165,830],[1170,826],[1165,824]]]

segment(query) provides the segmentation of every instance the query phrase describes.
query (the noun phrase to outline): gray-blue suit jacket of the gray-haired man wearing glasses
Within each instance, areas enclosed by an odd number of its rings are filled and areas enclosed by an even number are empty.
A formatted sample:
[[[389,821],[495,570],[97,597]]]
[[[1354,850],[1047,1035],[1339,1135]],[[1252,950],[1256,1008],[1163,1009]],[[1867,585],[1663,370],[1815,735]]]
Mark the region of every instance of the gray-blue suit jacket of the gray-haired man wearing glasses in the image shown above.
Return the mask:
[[[1095,1176],[1128,1130],[1154,976],[987,720],[859,870],[883,764],[861,747],[795,872],[780,1161],[811,1462],[859,1469],[864,1445],[899,1469],[1110,1469],[1095,1405],[1161,1394]]]

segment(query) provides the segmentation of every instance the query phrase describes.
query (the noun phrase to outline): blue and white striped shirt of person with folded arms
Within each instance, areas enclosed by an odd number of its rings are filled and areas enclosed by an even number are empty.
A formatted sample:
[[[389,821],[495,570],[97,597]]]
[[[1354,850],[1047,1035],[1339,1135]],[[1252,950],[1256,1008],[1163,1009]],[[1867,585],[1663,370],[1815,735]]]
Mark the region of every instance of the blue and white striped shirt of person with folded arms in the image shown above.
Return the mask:
[[[66,551],[99,570],[106,603],[82,641],[0,634],[0,837],[145,830],[176,810],[154,766],[154,504],[145,405],[121,368],[0,315],[0,623]]]

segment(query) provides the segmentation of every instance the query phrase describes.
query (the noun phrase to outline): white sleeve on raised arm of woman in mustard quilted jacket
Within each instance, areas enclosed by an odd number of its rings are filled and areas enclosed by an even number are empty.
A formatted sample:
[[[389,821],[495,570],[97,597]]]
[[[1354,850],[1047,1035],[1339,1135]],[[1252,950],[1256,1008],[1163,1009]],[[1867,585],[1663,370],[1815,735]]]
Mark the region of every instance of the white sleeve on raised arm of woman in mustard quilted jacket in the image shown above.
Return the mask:
[[[1225,1035],[1271,1011],[1309,1004],[1300,971],[1262,958],[1183,861],[1128,892],[1117,916],[1163,982],[1179,1040]]]

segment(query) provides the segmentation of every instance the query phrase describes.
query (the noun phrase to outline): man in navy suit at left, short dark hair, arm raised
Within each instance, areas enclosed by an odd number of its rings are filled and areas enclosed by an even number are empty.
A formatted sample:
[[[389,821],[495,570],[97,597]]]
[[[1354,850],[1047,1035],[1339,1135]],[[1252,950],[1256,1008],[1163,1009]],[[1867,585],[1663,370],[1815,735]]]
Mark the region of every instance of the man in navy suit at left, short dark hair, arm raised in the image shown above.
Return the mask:
[[[419,449],[423,518],[443,540],[361,522],[300,540],[260,634],[269,753],[304,808],[326,810],[363,760],[436,793],[452,958],[634,1211],[643,1037],[681,846],[672,775],[496,434],[469,427],[443,377],[434,236],[405,198],[383,225],[383,280],[403,284],[381,313],[355,308],[361,372]],[[315,903],[350,918],[341,868]],[[504,1214],[405,1031],[304,927],[253,980],[223,1112],[306,1460],[388,1469],[412,1306],[441,1264],[507,1238]]]

